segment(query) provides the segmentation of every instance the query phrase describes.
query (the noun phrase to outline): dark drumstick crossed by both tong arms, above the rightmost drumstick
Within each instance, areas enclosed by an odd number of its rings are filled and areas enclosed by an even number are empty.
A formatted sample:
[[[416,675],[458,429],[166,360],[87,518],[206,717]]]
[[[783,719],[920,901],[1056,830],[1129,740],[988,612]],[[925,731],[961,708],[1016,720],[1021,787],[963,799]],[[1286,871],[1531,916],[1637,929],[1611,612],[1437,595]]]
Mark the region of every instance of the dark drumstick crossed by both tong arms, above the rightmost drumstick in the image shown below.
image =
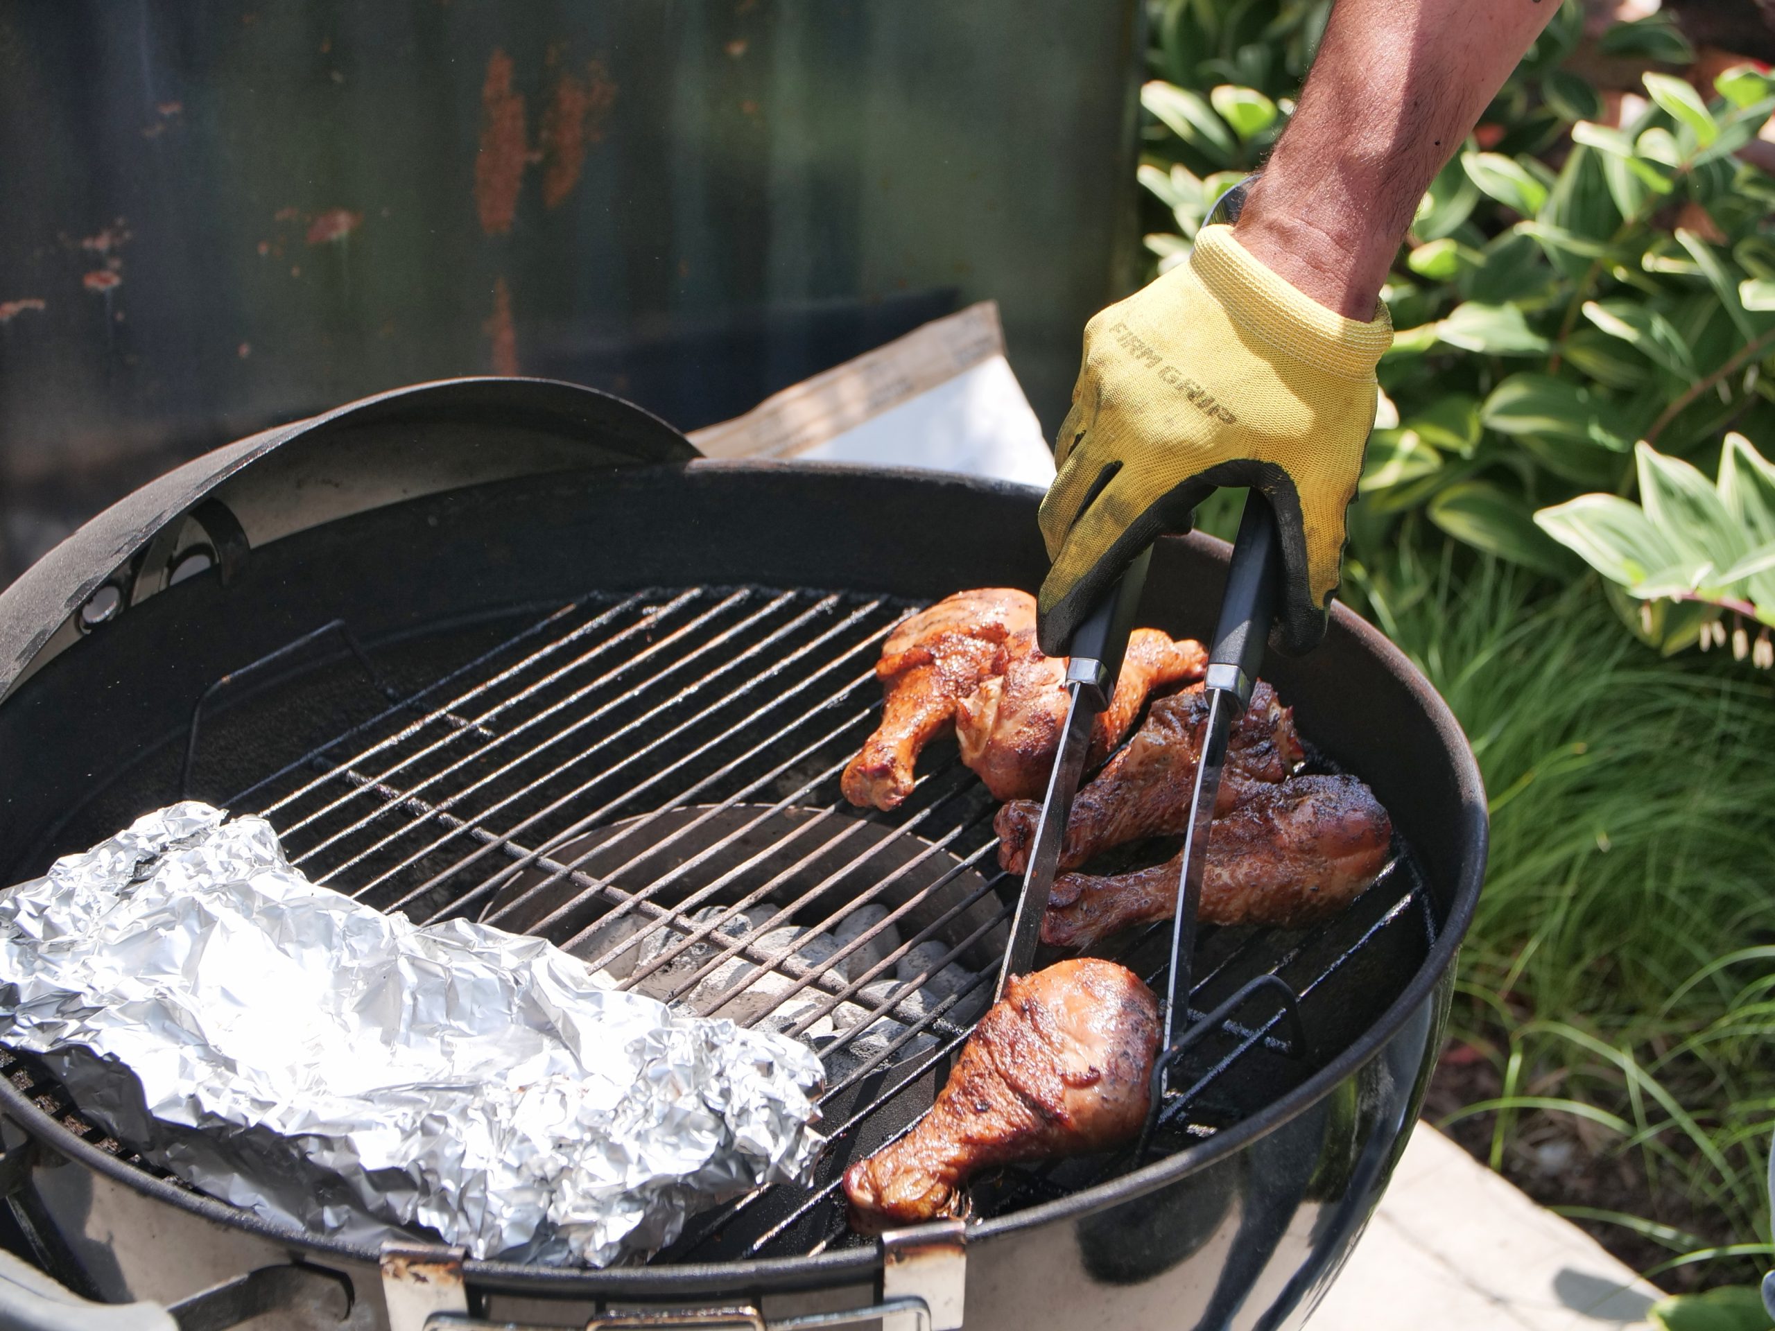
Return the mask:
[[[1184,832],[1207,715],[1209,696],[1200,685],[1152,705],[1127,747],[1072,800],[1060,868],[1077,868],[1124,841]],[[1305,751],[1294,729],[1294,708],[1282,706],[1276,690],[1258,680],[1251,705],[1234,722],[1227,742],[1216,815],[1230,811],[1248,786],[1287,779],[1301,758]],[[1035,800],[1015,800],[998,811],[992,829],[999,834],[1003,868],[1024,870],[1040,813]]]

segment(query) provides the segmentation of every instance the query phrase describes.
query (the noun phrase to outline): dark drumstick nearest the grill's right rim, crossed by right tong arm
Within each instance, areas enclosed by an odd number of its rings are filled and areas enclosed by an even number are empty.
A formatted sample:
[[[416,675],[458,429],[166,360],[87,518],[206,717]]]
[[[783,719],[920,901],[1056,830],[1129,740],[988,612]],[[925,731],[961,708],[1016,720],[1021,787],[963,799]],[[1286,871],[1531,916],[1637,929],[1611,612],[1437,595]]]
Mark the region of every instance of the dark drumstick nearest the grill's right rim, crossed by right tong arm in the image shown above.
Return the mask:
[[[1301,928],[1337,914],[1379,877],[1393,823],[1351,776],[1298,776],[1246,786],[1214,820],[1202,875],[1209,925]],[[1182,852],[1166,864],[1095,878],[1065,873],[1042,916],[1042,942],[1092,948],[1111,933],[1170,919]]]

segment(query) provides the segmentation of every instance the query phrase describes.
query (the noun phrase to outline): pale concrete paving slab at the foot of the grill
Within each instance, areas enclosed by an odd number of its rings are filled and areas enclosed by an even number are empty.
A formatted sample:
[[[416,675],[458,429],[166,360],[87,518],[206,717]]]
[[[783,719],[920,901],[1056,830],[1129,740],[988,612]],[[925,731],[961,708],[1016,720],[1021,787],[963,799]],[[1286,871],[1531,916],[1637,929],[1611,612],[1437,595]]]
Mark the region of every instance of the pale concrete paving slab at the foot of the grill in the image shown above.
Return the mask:
[[[1427,1123],[1310,1331],[1645,1331],[1663,1294]]]

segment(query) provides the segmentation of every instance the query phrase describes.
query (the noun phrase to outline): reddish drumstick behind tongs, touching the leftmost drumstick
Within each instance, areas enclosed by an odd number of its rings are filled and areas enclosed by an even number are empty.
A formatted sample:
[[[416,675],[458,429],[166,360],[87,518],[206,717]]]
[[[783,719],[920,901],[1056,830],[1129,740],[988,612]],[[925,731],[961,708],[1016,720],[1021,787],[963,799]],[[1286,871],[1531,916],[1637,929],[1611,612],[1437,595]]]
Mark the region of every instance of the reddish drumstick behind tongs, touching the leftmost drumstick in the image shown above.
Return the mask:
[[[992,799],[1035,799],[1047,786],[1060,729],[1067,724],[1067,658],[1044,657],[1035,646],[1033,628],[1014,634],[1005,655],[1005,673],[960,699],[955,738],[962,761],[985,781]],[[1207,658],[1207,650],[1193,639],[1173,642],[1157,628],[1136,628],[1115,696],[1092,728],[1086,765],[1095,767],[1122,742],[1147,694],[1182,680],[1200,680]]]

